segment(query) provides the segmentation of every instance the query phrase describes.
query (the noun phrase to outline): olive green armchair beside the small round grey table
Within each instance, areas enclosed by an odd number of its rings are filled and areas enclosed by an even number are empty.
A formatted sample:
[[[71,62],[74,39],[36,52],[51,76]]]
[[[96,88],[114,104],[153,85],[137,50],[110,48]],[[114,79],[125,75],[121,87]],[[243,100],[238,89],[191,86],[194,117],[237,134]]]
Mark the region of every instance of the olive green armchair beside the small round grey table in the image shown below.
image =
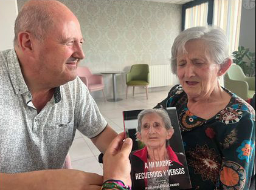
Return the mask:
[[[126,99],[128,94],[128,87],[145,87],[148,99],[148,85],[150,84],[150,68],[147,64],[131,65],[131,70],[126,73]]]

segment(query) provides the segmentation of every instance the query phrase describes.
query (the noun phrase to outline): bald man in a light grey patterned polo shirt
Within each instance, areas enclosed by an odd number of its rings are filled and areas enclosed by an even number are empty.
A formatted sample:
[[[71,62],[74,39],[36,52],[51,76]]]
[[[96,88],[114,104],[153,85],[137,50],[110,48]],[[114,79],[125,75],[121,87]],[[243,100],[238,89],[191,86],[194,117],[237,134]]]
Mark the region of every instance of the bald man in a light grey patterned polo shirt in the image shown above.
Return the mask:
[[[19,12],[14,49],[0,51],[0,189],[100,189],[102,176],[61,169],[76,129],[100,152],[117,136],[77,77],[82,44],[61,2]]]

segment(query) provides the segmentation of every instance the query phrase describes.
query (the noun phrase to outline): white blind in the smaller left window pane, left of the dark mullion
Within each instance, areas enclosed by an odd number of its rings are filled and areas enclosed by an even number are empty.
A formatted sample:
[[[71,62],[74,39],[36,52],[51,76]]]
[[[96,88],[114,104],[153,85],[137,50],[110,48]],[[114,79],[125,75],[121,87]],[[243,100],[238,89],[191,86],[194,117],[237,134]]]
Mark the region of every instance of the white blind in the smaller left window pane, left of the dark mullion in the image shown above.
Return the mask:
[[[191,27],[207,27],[208,2],[187,8],[185,11],[185,29]]]

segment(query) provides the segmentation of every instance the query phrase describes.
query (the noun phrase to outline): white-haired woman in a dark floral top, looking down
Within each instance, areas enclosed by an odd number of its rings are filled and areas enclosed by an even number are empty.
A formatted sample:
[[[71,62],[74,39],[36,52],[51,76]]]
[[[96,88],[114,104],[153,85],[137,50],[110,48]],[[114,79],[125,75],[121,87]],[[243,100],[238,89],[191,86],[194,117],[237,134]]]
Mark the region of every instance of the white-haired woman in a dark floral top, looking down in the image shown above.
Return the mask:
[[[232,64],[226,36],[218,28],[189,28],[175,39],[171,54],[181,85],[156,107],[177,109],[193,189],[248,189],[255,111],[220,85]]]

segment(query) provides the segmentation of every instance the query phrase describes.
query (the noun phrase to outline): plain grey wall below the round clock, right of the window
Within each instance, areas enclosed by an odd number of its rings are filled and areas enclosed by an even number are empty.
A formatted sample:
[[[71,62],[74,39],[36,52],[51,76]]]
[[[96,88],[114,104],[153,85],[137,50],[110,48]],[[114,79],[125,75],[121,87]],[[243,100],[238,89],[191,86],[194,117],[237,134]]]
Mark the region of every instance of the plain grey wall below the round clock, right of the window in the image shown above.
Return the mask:
[[[239,45],[255,52],[255,7],[251,10],[242,7]]]

